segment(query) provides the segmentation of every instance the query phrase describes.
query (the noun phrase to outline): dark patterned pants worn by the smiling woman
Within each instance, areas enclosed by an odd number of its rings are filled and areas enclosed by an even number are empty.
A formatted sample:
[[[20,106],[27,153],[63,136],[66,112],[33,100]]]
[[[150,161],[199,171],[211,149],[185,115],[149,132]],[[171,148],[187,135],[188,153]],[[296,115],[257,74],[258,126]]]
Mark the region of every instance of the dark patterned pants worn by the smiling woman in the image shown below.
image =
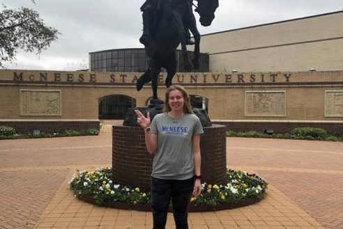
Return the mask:
[[[165,229],[171,198],[176,229],[188,229],[188,207],[193,187],[193,178],[188,180],[161,180],[151,177],[153,229]]]

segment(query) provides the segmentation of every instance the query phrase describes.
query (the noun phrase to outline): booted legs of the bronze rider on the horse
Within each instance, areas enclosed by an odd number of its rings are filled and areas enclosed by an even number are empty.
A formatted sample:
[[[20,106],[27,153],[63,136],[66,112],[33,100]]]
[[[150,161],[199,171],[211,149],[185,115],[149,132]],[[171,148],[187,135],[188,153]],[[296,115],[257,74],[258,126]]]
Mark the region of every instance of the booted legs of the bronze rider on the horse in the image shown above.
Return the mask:
[[[154,22],[155,16],[160,13],[161,10],[161,1],[162,0],[146,0],[144,4],[141,7],[141,11],[143,12],[143,35],[141,38],[139,38],[139,42],[141,42],[143,45],[148,45],[149,42],[149,36],[151,35],[150,27]],[[191,17],[193,14],[192,10],[192,0],[181,0],[186,1],[186,5],[188,9],[186,10],[186,16],[185,17]],[[189,32],[189,26],[187,23],[187,19],[183,19],[183,26],[185,28],[185,33],[187,34],[187,45],[194,45],[195,42],[190,40],[190,32]]]

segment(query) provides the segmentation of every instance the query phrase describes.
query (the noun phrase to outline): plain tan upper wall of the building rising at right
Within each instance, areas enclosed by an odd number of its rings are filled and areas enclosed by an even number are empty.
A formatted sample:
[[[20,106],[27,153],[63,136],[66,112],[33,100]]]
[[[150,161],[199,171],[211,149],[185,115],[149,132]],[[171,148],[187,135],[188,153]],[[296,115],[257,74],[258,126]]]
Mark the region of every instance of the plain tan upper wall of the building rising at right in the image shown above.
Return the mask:
[[[343,11],[201,36],[210,72],[343,69]]]

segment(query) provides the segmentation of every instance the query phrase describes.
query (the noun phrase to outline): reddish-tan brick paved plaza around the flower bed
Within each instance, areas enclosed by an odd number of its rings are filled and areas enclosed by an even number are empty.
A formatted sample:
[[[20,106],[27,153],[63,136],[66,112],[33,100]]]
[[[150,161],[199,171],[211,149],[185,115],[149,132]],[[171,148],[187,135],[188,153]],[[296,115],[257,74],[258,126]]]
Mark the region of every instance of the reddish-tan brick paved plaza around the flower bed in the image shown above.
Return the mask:
[[[99,136],[0,141],[0,228],[152,228],[151,212],[97,207],[68,189],[77,169],[111,161],[110,123]],[[227,165],[267,180],[266,198],[190,213],[190,228],[343,228],[343,143],[227,138]]]

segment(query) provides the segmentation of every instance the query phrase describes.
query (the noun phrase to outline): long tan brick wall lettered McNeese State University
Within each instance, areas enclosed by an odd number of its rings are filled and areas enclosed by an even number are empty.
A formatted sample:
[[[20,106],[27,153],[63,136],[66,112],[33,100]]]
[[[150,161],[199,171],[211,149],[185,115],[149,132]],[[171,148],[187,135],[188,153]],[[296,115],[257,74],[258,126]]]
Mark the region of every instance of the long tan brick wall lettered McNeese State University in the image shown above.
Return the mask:
[[[151,87],[137,92],[140,73],[0,71],[1,122],[98,122],[99,101],[127,95],[144,106]],[[158,95],[164,99],[165,74]],[[208,99],[211,120],[343,123],[343,71],[178,73],[190,95]]]

